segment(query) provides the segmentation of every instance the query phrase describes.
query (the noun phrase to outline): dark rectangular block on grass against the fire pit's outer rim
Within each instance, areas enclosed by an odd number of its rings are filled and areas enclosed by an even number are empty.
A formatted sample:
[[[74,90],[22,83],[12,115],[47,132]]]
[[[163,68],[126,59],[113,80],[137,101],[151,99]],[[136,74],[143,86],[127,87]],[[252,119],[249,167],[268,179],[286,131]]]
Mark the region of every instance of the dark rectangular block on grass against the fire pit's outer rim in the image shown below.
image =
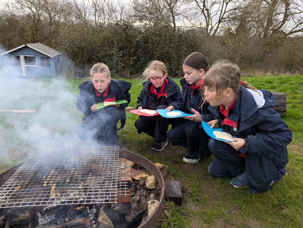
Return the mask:
[[[180,182],[175,180],[165,180],[164,186],[165,186],[164,199],[171,200],[175,204],[181,205],[182,192],[181,192]]]

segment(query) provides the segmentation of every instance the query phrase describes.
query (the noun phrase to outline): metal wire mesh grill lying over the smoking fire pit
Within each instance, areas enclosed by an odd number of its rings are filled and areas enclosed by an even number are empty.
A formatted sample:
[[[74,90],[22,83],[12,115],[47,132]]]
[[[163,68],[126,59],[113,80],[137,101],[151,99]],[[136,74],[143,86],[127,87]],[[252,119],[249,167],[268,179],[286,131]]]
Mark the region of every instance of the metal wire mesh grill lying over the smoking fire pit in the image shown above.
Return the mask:
[[[130,194],[123,158],[119,146],[41,149],[2,185],[0,208],[115,203]]]

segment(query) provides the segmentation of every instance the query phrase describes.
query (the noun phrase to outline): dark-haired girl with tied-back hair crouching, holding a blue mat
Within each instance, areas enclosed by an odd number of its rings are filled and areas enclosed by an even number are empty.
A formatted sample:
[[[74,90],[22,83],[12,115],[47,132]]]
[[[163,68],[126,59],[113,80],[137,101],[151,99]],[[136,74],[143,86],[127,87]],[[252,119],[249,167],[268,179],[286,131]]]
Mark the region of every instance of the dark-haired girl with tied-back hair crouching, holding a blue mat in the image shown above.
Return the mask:
[[[167,108],[168,111],[176,109],[194,114],[177,118],[176,127],[168,131],[168,138],[173,146],[180,145],[188,148],[183,161],[189,164],[198,163],[200,158],[211,156],[208,150],[209,136],[201,127],[201,115],[207,115],[207,106],[201,107],[201,91],[204,86],[204,74],[208,68],[206,58],[201,53],[194,52],[188,55],[183,63],[184,78],[180,80],[182,98],[170,103]]]

